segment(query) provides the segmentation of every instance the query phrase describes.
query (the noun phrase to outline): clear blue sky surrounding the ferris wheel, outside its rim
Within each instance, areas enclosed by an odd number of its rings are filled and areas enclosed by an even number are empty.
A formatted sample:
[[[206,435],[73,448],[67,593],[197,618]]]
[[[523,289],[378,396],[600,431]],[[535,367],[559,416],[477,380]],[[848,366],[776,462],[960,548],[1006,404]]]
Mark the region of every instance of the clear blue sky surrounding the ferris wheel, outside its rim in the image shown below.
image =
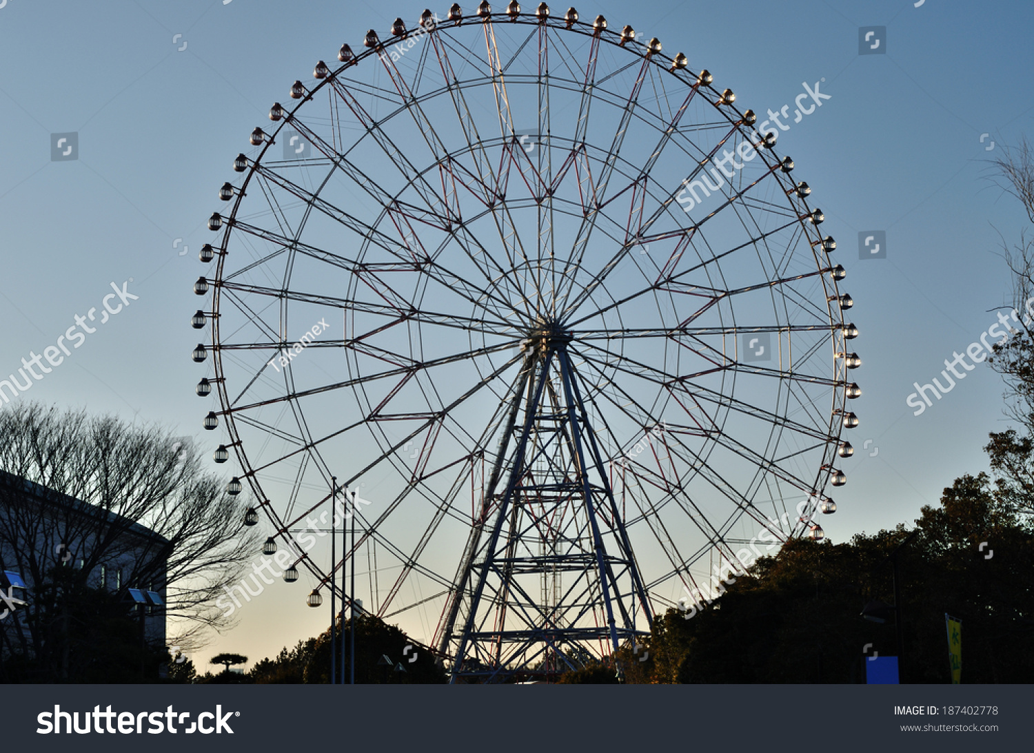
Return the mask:
[[[193,394],[199,338],[188,319],[217,189],[293,81],[309,79],[342,42],[358,49],[368,28],[384,35],[396,15],[412,23],[423,7],[6,0],[0,374],[99,310],[113,282],[127,283],[139,299],[27,397],[160,422],[196,437],[207,454],[219,433],[203,432],[201,419],[217,404]],[[1025,133],[1034,112],[1034,6],[732,0],[579,10],[660,37],[759,114],[791,103],[805,84],[820,82],[830,97],[779,142],[839,241],[861,331],[861,425],[850,437],[855,458],[843,464],[840,510],[823,521],[827,535],[843,541],[911,524],[957,475],[986,469],[981,446],[1005,426],[990,369],[978,367],[922,415],[906,399],[1008,303],[999,233],[1013,241],[1029,221],[989,180],[987,160]],[[886,27],[885,54],[858,54],[865,26]],[[51,134],[63,132],[78,133],[78,159],[52,161]],[[886,258],[858,258],[858,233],[870,230],[886,232]],[[315,634],[325,615],[304,606],[298,586],[270,587],[202,658],[224,650],[257,659]]]

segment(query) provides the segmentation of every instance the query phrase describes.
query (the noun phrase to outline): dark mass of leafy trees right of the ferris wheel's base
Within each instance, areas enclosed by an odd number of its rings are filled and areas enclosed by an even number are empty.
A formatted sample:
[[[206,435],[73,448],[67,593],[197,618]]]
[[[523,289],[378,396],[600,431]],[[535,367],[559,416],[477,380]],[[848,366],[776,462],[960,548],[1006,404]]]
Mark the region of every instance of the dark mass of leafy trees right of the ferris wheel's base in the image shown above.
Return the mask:
[[[963,621],[964,683],[1030,682],[1030,528],[980,474],[945,489],[939,506],[921,509],[916,529],[899,554],[904,682],[949,682],[945,613]],[[866,645],[870,656],[898,652],[893,619],[868,622],[861,607],[893,603],[887,556],[908,535],[900,526],[842,544],[787,543],[710,608],[690,620],[677,609],[659,617],[644,640],[648,659],[622,656],[628,681],[864,682]]]

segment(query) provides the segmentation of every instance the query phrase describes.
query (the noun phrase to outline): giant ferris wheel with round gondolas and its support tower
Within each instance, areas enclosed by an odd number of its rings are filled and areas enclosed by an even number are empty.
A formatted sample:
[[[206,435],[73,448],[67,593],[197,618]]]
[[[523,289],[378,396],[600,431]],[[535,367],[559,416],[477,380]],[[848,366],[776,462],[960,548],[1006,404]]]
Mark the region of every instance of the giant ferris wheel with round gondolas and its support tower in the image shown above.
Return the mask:
[[[774,134],[573,8],[386,31],[273,105],[201,252],[205,426],[285,579],[318,601],[359,563],[365,611],[500,682],[612,656],[759,536],[821,538],[858,332]],[[298,532],[335,478],[328,566]]]

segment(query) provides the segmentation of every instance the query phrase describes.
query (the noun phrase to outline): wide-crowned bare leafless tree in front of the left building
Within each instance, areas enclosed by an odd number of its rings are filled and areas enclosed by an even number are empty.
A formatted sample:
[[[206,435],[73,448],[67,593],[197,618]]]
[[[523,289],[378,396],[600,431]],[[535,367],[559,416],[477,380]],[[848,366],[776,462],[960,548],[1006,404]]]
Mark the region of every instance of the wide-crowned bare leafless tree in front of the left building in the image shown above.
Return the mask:
[[[39,586],[19,639],[37,657],[61,642],[61,589],[44,587],[55,572],[87,587],[115,563],[124,587],[165,590],[170,634],[181,647],[229,628],[215,600],[260,546],[243,527],[243,497],[203,470],[190,443],[156,426],[9,405],[0,411],[0,564]]]

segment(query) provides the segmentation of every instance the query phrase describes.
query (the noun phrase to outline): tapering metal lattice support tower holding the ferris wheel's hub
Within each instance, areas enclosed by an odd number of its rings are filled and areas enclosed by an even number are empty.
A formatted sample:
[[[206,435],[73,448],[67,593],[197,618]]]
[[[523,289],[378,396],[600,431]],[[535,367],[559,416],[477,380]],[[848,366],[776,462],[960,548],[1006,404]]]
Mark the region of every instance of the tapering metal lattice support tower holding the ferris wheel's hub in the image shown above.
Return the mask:
[[[571,341],[548,321],[524,341],[522,382],[437,637],[453,683],[548,680],[649,631]]]

